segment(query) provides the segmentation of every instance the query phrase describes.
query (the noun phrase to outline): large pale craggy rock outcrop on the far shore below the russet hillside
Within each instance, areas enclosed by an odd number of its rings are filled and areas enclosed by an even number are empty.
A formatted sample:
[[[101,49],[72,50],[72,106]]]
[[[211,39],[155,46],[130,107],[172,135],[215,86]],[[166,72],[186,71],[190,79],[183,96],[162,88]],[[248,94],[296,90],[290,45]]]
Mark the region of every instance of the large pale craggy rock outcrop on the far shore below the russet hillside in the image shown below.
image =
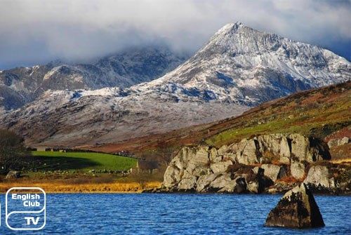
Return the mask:
[[[260,135],[219,149],[183,147],[166,169],[163,187],[181,192],[257,194],[290,172],[302,178],[305,163],[330,158],[326,150],[326,145],[299,134]]]

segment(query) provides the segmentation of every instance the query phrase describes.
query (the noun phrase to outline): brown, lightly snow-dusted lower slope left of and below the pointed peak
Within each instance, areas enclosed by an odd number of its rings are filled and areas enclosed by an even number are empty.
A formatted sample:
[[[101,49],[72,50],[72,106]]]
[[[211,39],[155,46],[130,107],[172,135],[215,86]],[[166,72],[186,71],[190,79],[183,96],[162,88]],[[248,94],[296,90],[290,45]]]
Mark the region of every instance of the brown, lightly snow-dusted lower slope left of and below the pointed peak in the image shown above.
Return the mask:
[[[0,116],[0,127],[21,133],[27,145],[73,147],[164,133],[211,122],[216,111],[230,117],[244,110],[160,90],[148,94],[121,88],[57,90]]]

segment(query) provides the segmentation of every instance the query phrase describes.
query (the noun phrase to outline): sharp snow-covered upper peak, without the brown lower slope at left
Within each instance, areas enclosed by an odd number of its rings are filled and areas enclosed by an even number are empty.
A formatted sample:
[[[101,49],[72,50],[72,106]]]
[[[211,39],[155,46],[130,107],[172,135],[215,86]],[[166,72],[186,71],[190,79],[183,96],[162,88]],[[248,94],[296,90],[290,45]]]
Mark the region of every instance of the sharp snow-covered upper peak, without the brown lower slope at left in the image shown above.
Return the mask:
[[[258,105],[350,78],[350,62],[331,51],[237,22],[225,25],[183,65],[145,86],[179,83],[211,90],[218,100]]]

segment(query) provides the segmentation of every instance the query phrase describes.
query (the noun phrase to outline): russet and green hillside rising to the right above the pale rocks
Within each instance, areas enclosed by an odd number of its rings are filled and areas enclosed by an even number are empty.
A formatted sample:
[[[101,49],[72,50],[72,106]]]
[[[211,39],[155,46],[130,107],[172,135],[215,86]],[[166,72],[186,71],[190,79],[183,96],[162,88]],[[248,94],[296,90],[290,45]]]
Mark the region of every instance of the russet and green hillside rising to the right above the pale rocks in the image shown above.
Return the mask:
[[[252,135],[301,133],[321,139],[351,124],[351,82],[302,91],[265,102],[244,114],[175,130],[163,135],[135,138],[113,145],[88,147],[105,152],[138,152],[138,149],[177,149],[206,143],[220,147]],[[350,133],[350,130],[345,130]],[[346,135],[344,133],[344,135]]]

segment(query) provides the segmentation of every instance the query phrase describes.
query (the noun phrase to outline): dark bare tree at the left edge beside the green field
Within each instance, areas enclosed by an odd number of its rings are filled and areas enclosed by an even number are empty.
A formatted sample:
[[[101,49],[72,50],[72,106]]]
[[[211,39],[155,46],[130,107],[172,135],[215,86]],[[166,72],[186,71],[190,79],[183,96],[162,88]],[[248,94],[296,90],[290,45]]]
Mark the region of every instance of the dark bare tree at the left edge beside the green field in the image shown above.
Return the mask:
[[[9,170],[22,170],[29,163],[28,156],[29,152],[20,135],[0,129],[0,174],[6,174]]]

